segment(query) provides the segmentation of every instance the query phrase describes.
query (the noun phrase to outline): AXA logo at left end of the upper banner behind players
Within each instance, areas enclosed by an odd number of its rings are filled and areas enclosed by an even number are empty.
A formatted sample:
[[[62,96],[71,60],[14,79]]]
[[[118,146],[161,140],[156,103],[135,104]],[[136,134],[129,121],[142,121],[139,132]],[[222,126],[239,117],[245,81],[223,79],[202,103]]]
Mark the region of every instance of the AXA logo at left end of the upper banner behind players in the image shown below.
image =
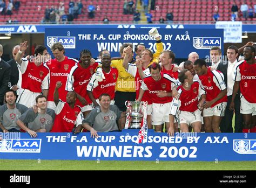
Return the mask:
[[[62,43],[64,48],[76,48],[76,37],[47,37],[47,46]]]

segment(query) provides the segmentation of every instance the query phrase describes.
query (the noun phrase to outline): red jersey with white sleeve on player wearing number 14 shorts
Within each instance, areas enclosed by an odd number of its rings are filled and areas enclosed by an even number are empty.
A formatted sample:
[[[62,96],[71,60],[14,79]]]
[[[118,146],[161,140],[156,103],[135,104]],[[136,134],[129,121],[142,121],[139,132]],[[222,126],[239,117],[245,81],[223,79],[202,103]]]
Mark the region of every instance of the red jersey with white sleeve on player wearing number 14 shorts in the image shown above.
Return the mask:
[[[219,95],[221,90],[227,88],[224,82],[223,73],[216,70],[211,71],[211,67],[208,67],[207,74],[199,75],[199,79],[201,80],[201,83],[204,86],[206,92],[206,101],[211,101],[215,99]],[[213,103],[211,107],[214,107],[221,102],[227,102],[227,95],[225,95],[217,102]]]

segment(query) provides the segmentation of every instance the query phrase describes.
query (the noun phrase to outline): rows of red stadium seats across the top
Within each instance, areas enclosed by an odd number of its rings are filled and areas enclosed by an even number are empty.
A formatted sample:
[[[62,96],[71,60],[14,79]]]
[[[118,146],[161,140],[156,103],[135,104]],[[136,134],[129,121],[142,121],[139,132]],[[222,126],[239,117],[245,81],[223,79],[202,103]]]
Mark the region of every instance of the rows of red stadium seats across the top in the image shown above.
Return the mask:
[[[39,0],[37,2],[19,0],[21,6],[19,10],[14,9],[14,13],[11,16],[5,15],[0,16],[0,23],[5,24],[6,20],[11,18],[12,20],[17,19],[19,23],[40,23],[42,17],[44,17],[44,10],[46,5],[49,7],[51,5],[58,6],[58,1],[53,0]],[[68,11],[69,0],[63,0],[65,5],[65,10]],[[135,2],[135,1],[134,1]],[[138,4],[139,1],[136,1]],[[87,17],[87,6],[90,4],[90,1],[82,1],[83,10],[82,14],[78,16],[77,19],[73,20],[73,23],[87,23],[95,24],[102,23],[104,16],[106,15],[109,18],[110,23],[132,23],[133,15],[124,15],[123,14],[123,1],[119,0],[96,0],[93,1],[93,5],[96,7],[95,18],[90,19]],[[153,16],[153,23],[158,23],[160,16],[165,18],[167,11],[173,12],[174,23],[213,23],[212,16],[213,12],[218,9],[220,15],[220,21],[231,20],[231,6],[233,0],[191,0],[191,1],[174,1],[174,0],[156,0],[155,9],[150,10],[150,13]],[[240,11],[240,5],[242,1],[235,0],[235,3],[239,8],[239,18],[237,21],[242,21],[244,24],[255,24],[256,18],[242,18],[242,13]],[[254,7],[254,1],[245,0],[245,3],[248,6]],[[144,15],[144,10],[139,8],[141,15]],[[150,6],[149,6],[150,9]],[[145,22],[145,19],[142,19],[140,23]],[[145,22],[146,23],[146,22]]]

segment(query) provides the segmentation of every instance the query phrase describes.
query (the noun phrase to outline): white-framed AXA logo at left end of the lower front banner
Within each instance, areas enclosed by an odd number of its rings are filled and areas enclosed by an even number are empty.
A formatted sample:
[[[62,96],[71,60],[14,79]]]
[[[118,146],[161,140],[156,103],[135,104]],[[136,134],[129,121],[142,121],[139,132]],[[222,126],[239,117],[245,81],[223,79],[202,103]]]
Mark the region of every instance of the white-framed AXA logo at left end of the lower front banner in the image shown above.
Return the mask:
[[[4,139],[0,141],[0,152],[39,153],[41,139]]]

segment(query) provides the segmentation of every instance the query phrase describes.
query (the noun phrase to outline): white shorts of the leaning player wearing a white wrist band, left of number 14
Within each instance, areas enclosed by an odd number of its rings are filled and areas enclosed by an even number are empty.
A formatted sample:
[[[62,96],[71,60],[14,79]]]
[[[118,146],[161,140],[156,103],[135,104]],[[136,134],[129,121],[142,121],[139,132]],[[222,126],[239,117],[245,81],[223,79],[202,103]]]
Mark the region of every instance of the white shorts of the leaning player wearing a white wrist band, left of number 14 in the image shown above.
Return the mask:
[[[201,118],[201,111],[199,109],[197,109],[195,112],[180,111],[179,123],[186,123],[189,126],[197,121],[202,122]]]

